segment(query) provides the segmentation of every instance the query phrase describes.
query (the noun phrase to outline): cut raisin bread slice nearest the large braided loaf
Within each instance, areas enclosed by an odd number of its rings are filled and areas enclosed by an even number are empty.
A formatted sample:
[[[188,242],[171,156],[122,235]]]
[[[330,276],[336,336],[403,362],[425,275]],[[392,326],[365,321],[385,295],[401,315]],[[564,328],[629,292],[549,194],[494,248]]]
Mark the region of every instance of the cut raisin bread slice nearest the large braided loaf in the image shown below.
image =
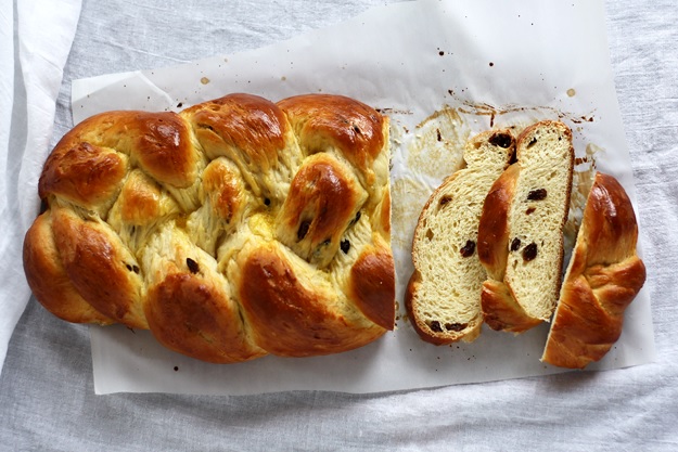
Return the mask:
[[[478,221],[487,191],[514,151],[508,129],[471,139],[466,167],[433,192],[419,217],[405,301],[414,330],[428,343],[471,341],[481,333],[479,294],[487,275],[476,253]]]

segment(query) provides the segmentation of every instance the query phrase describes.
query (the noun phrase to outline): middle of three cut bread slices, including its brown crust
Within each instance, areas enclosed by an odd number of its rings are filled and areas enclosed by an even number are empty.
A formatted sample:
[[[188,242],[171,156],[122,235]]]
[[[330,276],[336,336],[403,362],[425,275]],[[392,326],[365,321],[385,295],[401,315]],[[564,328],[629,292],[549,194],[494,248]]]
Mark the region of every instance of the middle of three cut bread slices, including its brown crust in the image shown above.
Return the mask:
[[[517,162],[492,184],[478,225],[478,256],[488,279],[484,321],[522,333],[548,321],[558,300],[563,264],[574,148],[572,131],[543,120],[517,139]]]

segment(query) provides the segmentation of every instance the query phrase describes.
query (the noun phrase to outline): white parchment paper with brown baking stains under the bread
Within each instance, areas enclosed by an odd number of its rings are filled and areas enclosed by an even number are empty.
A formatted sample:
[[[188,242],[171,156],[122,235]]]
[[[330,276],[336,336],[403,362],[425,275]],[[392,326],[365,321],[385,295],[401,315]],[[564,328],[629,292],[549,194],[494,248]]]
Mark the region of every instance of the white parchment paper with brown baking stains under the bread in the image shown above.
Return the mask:
[[[562,372],[539,361],[547,324],[521,336],[485,326],[472,344],[435,347],[413,332],[402,294],[419,211],[459,167],[460,146],[473,133],[561,118],[573,128],[585,166],[594,159],[635,202],[602,1],[396,3],[264,49],[77,80],[73,115],[79,122],[108,109],[179,111],[230,92],[271,101],[340,93],[391,116],[397,328],[347,353],[216,365],[168,351],[148,332],[92,326],[97,393],[376,392]],[[643,289],[627,310],[619,341],[588,369],[638,365],[654,353]]]

